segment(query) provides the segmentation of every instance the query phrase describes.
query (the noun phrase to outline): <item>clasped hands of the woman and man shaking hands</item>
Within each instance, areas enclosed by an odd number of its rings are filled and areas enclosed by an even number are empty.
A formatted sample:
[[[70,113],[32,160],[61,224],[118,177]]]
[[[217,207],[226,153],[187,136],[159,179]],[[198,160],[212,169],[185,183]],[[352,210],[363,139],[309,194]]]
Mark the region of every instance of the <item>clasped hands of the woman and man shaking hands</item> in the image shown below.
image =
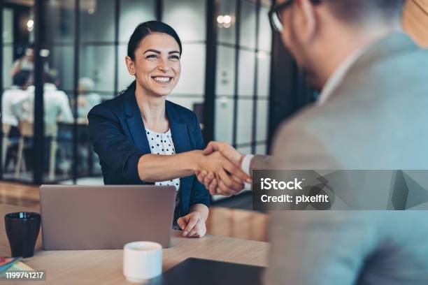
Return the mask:
[[[195,174],[211,195],[231,196],[252,182],[241,170],[244,155],[227,143],[209,142],[201,154]]]

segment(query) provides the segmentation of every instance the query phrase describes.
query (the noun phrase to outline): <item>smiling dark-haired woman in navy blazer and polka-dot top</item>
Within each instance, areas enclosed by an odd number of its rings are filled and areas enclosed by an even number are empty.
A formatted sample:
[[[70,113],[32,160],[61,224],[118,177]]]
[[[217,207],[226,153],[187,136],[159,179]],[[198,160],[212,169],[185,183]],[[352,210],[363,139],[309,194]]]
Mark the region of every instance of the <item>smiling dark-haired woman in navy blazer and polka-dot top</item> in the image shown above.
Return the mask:
[[[182,52],[180,38],[169,25],[139,24],[125,58],[136,79],[119,96],[90,111],[89,131],[105,184],[176,187],[173,226],[187,237],[202,237],[210,196],[194,172],[216,173],[225,189],[242,188],[249,177],[218,152],[202,154],[197,116],[166,100],[180,79]]]

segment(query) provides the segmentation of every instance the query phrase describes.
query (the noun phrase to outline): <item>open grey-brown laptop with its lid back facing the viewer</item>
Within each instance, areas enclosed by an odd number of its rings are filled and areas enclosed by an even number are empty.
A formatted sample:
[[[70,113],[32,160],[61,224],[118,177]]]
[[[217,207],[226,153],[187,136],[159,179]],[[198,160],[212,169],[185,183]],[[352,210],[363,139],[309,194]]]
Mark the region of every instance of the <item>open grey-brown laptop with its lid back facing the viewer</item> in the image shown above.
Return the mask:
[[[146,240],[169,247],[173,186],[42,185],[43,249],[122,249]]]

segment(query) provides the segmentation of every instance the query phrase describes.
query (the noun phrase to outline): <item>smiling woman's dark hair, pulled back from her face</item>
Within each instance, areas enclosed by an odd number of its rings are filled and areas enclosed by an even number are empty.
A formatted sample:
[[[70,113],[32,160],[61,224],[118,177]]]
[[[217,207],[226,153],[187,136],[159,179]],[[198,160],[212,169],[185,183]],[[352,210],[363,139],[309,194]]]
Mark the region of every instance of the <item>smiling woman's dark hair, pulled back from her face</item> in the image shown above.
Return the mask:
[[[181,52],[183,52],[183,47],[181,46],[181,41],[178,37],[177,32],[169,24],[165,24],[164,22],[148,21],[138,24],[138,26],[134,30],[134,33],[132,33],[131,38],[129,38],[127,52],[128,57],[131,57],[132,60],[135,60],[135,51],[138,48],[138,45],[140,45],[143,38],[150,34],[156,33],[168,34],[169,36],[172,36],[177,41],[178,46],[180,47],[181,55]],[[129,89],[135,89],[135,87],[136,80],[134,80],[131,85],[129,85],[127,89],[124,90],[124,92],[127,92]]]

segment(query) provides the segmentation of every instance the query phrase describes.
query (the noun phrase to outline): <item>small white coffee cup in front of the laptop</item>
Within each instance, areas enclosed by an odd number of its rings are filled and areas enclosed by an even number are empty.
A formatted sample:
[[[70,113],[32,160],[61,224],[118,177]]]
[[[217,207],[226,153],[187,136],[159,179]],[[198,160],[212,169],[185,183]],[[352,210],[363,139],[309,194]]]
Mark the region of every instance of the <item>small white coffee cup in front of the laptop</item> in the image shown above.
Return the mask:
[[[123,247],[123,275],[130,282],[144,282],[162,273],[162,245],[129,242]]]

